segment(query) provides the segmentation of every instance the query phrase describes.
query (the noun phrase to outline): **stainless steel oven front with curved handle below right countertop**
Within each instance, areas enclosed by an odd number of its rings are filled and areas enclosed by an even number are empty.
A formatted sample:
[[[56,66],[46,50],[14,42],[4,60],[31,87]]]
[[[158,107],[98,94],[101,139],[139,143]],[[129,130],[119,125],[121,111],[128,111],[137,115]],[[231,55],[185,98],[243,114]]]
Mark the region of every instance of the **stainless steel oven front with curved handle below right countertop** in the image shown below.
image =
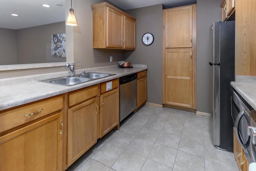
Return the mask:
[[[250,161],[249,145],[250,134],[248,126],[251,124],[250,113],[253,108],[243,97],[231,87],[231,115],[236,137],[244,149],[247,160]]]

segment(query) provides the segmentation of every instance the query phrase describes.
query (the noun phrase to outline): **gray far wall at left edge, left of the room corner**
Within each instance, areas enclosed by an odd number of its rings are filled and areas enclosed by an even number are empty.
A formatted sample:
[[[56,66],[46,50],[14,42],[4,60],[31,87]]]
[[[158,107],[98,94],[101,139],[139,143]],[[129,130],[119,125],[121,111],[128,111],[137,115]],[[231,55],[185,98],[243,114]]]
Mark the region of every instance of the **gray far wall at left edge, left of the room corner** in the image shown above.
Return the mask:
[[[17,64],[16,31],[0,28],[0,65]]]

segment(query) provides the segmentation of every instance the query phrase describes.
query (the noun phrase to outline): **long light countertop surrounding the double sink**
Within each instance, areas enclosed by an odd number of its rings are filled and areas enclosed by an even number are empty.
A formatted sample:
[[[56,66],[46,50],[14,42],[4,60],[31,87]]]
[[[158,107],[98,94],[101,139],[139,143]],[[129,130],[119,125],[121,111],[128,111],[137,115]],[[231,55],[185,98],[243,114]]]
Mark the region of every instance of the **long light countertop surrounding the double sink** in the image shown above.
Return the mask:
[[[18,78],[0,79],[0,111],[147,70],[147,65],[132,66],[134,68],[118,68],[117,66],[87,68],[84,69],[85,72],[100,72],[116,75],[93,80],[90,82],[85,82],[82,84],[72,85],[69,87],[38,82],[38,80],[68,76],[70,74],[70,72],[68,71],[51,74],[38,74]],[[75,74],[81,74],[82,71],[83,70],[75,70]]]

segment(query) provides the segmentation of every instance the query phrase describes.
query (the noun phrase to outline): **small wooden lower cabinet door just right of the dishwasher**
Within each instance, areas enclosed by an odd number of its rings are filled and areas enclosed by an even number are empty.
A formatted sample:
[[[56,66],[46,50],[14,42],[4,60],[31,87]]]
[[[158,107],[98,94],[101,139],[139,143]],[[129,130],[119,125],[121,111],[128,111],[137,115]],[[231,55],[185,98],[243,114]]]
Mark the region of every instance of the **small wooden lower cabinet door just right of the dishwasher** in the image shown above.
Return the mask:
[[[147,100],[147,78],[137,80],[137,108]]]

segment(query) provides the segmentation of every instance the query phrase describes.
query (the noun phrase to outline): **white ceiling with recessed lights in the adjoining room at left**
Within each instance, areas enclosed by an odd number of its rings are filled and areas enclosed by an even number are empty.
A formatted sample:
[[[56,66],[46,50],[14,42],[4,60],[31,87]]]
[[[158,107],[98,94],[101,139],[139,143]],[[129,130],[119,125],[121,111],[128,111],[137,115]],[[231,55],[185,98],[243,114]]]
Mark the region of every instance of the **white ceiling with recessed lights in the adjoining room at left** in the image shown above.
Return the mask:
[[[11,16],[13,13],[19,16]],[[0,28],[16,30],[61,21],[65,21],[65,0],[0,0]]]

